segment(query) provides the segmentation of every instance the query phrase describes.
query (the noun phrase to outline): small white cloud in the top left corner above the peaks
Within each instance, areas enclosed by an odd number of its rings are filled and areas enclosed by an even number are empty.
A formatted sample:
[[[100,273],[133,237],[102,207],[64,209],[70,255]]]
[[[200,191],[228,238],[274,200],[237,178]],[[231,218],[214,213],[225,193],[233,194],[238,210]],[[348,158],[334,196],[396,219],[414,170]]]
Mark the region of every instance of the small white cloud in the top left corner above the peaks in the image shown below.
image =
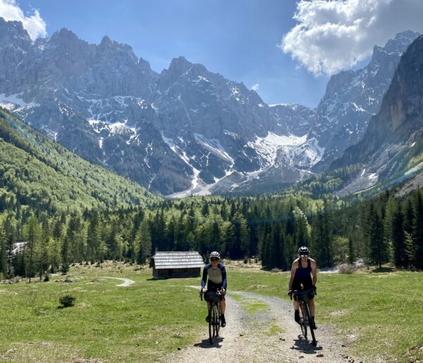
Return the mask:
[[[0,16],[6,21],[18,20],[22,22],[23,27],[32,40],[47,35],[46,23],[44,23],[44,20],[39,16],[39,11],[34,9],[34,14],[32,16],[25,16],[18,4],[16,4],[16,0],[0,0]]]

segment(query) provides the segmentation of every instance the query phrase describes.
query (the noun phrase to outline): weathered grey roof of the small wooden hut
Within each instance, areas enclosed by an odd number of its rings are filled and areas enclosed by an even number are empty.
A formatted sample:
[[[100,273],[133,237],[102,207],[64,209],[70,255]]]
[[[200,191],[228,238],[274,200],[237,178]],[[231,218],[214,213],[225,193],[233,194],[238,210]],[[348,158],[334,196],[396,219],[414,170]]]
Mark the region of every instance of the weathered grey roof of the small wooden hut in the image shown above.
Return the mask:
[[[196,251],[156,252],[150,261],[150,266],[156,269],[190,269],[203,267],[204,262]]]

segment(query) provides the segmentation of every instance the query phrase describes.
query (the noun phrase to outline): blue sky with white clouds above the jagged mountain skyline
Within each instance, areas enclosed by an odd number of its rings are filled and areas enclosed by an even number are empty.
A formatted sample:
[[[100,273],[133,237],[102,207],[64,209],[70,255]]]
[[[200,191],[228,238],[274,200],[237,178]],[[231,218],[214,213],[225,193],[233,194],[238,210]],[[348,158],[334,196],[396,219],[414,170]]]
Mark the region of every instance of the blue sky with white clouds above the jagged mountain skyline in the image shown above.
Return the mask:
[[[268,104],[314,107],[329,76],[367,63],[374,44],[383,46],[406,29],[423,32],[420,3],[0,0],[0,16],[23,19],[32,37],[50,37],[62,27],[94,44],[108,35],[133,47],[157,72],[168,68],[174,57],[185,56],[254,87]]]

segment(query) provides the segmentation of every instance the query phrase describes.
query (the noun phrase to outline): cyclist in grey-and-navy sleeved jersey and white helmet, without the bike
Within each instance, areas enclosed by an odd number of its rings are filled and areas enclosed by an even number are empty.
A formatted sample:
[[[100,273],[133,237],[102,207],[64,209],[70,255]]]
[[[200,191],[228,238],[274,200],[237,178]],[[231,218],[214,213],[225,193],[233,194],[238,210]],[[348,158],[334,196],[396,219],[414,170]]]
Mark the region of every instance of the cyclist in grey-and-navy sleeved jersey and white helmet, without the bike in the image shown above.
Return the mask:
[[[224,328],[226,326],[225,320],[225,294],[226,294],[226,269],[223,264],[219,263],[220,254],[219,252],[213,251],[210,254],[210,263],[204,266],[203,276],[201,281],[201,290],[200,293],[204,293],[204,287],[207,283],[207,291],[221,291],[221,301],[219,303],[219,308],[221,311],[221,326]],[[208,277],[208,281],[207,281]],[[209,303],[207,302],[207,307]],[[206,321],[208,321],[209,315],[207,314]]]

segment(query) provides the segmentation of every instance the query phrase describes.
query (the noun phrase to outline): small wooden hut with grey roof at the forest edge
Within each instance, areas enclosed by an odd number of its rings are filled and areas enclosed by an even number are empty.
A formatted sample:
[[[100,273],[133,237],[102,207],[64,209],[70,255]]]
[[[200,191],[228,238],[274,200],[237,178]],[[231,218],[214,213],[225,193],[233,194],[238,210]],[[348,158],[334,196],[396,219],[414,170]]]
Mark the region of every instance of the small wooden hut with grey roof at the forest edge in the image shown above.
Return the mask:
[[[153,278],[198,277],[204,262],[198,252],[156,252],[150,260]]]

